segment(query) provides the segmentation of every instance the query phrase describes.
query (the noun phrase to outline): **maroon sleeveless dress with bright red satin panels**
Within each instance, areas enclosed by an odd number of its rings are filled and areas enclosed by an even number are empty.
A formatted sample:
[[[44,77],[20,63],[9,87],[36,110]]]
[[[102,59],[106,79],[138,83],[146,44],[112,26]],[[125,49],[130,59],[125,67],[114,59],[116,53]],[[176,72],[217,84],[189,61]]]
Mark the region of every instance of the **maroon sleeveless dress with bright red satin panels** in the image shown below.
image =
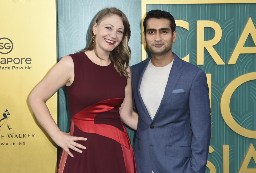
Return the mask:
[[[126,78],[117,74],[113,62],[93,63],[84,52],[70,55],[75,78],[66,87],[71,117],[70,135],[86,137],[76,141],[86,146],[83,153],[61,149],[58,173],[134,173],[133,149],[119,117],[125,97]]]

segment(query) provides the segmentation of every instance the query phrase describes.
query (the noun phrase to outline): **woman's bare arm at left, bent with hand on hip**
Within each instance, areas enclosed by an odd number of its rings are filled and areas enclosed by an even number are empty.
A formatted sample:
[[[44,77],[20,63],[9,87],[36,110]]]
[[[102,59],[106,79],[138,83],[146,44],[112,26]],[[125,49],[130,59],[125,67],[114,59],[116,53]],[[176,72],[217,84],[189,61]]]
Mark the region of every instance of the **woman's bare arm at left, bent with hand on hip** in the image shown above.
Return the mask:
[[[45,78],[34,88],[29,96],[30,106],[41,126],[50,135],[53,141],[63,148],[71,157],[73,154],[69,148],[82,153],[86,149],[75,141],[85,141],[86,138],[70,136],[69,133],[62,132],[53,120],[46,101],[53,96],[59,88],[70,86],[74,80],[74,64],[70,56],[64,56],[46,75]]]

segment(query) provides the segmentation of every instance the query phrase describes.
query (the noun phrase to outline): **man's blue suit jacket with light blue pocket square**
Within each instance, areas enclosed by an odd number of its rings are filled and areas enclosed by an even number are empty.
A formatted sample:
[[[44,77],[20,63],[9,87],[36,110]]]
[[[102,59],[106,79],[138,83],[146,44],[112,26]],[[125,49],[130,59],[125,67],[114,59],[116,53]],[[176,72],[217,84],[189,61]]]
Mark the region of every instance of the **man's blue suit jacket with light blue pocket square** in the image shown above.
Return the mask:
[[[174,54],[163,98],[151,120],[139,92],[150,59],[131,66],[134,110],[139,114],[137,172],[204,173],[211,135],[206,74]]]

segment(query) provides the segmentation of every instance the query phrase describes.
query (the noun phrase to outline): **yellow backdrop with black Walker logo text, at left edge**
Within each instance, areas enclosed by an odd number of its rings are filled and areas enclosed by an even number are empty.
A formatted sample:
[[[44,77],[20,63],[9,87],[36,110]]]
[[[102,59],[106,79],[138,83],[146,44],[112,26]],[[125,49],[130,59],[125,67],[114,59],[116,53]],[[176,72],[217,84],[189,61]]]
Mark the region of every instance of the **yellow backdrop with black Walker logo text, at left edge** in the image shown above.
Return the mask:
[[[1,0],[0,7],[1,172],[53,172],[57,148],[28,97],[57,62],[56,2]],[[57,121],[57,94],[47,105]]]

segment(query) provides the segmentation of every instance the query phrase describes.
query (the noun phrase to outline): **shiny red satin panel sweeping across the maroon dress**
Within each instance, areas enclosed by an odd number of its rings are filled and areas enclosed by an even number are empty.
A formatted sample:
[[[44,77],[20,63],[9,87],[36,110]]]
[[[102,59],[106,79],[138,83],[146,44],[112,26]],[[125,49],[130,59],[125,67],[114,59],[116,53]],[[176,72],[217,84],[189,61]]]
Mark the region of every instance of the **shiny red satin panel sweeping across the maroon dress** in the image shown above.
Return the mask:
[[[71,119],[71,124],[74,123],[83,132],[96,133],[119,142],[122,145],[126,172],[134,173],[136,172],[135,158],[125,127],[123,126],[124,132],[122,132],[115,126],[94,123],[94,119],[99,113],[119,108],[120,100],[123,101],[123,99],[118,98],[95,103],[75,114]]]

